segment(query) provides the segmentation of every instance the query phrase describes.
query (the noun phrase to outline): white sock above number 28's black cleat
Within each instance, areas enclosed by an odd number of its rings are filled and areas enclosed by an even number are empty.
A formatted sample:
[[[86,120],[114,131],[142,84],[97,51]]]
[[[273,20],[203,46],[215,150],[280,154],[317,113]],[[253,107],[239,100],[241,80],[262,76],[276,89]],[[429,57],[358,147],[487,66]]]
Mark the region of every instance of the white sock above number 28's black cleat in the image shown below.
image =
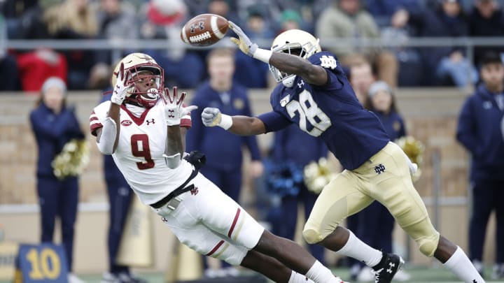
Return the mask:
[[[349,230],[349,233],[349,240],[337,253],[362,261],[366,266],[376,266],[381,260],[381,252],[365,244],[356,235],[353,235],[352,231]]]

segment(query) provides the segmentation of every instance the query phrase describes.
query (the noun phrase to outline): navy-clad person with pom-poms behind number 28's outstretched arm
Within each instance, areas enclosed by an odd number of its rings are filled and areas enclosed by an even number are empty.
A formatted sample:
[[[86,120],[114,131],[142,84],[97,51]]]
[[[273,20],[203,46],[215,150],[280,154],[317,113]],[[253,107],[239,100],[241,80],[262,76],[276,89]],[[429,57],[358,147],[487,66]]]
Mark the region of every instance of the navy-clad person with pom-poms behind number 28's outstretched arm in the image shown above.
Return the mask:
[[[302,148],[303,150],[300,150]],[[293,154],[296,152],[296,154]],[[303,170],[311,161],[318,161],[321,157],[328,157],[328,148],[319,138],[307,135],[296,125],[274,133],[274,145],[272,146],[272,161],[274,164],[286,164],[292,162]],[[297,224],[297,205],[302,204],[304,219],[308,219],[318,195],[309,191],[306,185],[300,185],[297,196],[286,195],[281,198],[279,221],[272,224],[276,235],[294,240]],[[324,247],[321,245],[308,245],[310,253],[322,264],[324,260]]]

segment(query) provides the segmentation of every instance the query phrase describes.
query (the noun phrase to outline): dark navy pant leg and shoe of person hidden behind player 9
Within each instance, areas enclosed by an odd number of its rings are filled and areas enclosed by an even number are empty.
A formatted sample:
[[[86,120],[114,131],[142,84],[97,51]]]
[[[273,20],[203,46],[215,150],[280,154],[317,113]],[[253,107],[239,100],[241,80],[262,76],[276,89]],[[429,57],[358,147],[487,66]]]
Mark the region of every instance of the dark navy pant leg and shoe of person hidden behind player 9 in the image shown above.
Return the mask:
[[[123,236],[128,211],[132,203],[133,192],[124,178],[106,179],[109,194],[109,234],[107,245],[109,249],[109,272],[113,274],[130,274],[128,266],[116,263],[120,240]]]

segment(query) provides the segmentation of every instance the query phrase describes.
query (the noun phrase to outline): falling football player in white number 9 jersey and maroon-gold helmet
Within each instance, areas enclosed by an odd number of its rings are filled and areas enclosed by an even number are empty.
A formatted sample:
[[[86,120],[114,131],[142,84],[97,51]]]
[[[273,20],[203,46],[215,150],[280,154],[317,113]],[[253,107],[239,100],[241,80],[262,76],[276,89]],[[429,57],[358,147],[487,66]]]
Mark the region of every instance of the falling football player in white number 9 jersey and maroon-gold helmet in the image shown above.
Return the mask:
[[[91,133],[141,201],[183,244],[251,268],[275,282],[342,282],[295,242],[265,231],[235,201],[183,159],[188,114],[163,87],[162,68],[142,53],[127,55],[113,75],[113,94],[90,117]],[[161,98],[161,99],[160,99]]]

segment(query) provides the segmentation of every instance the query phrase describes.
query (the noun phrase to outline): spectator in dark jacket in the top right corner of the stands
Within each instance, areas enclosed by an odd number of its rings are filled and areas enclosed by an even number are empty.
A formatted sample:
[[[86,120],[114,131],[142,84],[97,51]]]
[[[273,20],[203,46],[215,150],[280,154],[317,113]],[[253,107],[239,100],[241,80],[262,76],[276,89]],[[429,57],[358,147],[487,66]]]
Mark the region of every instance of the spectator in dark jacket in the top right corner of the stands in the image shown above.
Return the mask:
[[[504,13],[495,0],[475,0],[469,17],[469,35],[498,37],[504,36]],[[502,46],[476,46],[474,63],[481,61],[482,56],[489,51],[503,53]]]

